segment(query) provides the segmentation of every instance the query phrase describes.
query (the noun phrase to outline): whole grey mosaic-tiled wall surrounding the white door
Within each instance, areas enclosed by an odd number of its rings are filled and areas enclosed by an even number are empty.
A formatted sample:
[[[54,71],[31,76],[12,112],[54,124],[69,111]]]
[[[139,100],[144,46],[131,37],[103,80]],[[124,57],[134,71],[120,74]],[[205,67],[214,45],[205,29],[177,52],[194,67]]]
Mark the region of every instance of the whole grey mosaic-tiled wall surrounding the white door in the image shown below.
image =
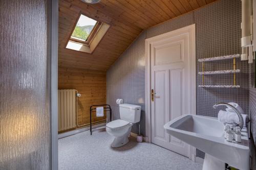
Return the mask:
[[[222,0],[192,13],[166,21],[147,29],[131,44],[107,72],[107,103],[113,107],[114,118],[119,118],[115,100],[142,106],[141,133],[145,134],[145,39],[196,24],[197,72],[202,71],[198,59],[240,54],[241,1]],[[218,102],[236,102],[248,113],[248,64],[236,59],[236,81],[240,88],[199,88],[202,76],[197,74],[197,114],[214,116],[218,110],[212,106]],[[205,63],[205,71],[232,68],[232,59]],[[232,74],[205,76],[205,85],[232,85]],[[138,133],[138,126],[133,132]],[[203,157],[203,152],[197,151]]]

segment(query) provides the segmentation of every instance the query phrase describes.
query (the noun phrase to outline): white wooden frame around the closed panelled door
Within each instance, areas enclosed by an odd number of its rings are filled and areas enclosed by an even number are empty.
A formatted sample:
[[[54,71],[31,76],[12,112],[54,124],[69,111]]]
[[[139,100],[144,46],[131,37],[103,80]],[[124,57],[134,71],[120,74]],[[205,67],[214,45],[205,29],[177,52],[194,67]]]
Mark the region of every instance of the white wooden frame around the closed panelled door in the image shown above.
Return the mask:
[[[191,39],[194,43],[189,43],[189,58],[191,58],[191,62],[189,62],[189,78],[190,78],[190,94],[189,98],[191,102],[190,110],[192,112],[190,114],[196,115],[196,25],[186,26],[174,31],[170,31],[161,35],[157,35],[155,37],[145,39],[145,131],[146,137],[148,138],[148,142],[151,143],[151,43],[156,40],[161,40],[162,38],[172,37],[174,34],[186,34],[191,33]],[[189,35],[190,38],[190,35]],[[196,148],[189,145],[189,159],[195,161],[196,160]]]

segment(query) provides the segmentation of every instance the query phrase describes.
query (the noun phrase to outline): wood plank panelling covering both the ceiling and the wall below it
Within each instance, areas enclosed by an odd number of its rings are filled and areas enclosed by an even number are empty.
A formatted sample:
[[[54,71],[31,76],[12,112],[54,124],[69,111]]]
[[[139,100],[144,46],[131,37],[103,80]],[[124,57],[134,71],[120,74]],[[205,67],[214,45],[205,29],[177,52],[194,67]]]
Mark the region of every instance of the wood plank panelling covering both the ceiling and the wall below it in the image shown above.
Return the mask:
[[[76,89],[78,124],[90,123],[90,106],[105,104],[105,71],[142,30],[198,9],[216,0],[59,0],[58,88]],[[111,25],[93,54],[66,48],[80,13]],[[105,117],[93,116],[93,122]]]

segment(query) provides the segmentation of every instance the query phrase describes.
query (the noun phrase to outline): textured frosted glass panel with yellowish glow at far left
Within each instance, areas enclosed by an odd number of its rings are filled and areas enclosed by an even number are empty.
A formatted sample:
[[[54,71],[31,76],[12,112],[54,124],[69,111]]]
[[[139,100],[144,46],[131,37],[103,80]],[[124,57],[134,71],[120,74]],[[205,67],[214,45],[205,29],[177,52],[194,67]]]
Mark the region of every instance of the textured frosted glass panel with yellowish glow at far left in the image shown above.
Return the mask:
[[[47,3],[1,0],[0,20],[0,169],[49,169]]]

